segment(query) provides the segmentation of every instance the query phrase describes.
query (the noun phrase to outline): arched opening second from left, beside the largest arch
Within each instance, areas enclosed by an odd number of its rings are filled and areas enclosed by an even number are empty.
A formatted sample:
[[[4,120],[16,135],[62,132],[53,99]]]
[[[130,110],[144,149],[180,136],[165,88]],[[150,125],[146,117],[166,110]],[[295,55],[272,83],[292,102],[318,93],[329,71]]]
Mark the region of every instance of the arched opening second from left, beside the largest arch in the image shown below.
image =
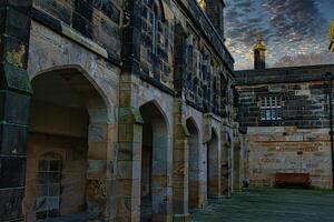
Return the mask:
[[[165,221],[168,195],[168,127],[155,102],[140,107],[143,125],[140,221]]]

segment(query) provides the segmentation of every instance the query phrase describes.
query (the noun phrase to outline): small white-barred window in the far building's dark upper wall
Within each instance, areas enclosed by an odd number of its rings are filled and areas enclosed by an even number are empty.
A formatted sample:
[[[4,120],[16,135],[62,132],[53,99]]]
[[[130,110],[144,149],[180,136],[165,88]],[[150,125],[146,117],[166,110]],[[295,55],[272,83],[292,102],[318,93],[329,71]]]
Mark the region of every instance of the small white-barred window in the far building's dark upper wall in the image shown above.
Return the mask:
[[[282,104],[279,97],[263,97],[261,99],[261,120],[282,120]]]

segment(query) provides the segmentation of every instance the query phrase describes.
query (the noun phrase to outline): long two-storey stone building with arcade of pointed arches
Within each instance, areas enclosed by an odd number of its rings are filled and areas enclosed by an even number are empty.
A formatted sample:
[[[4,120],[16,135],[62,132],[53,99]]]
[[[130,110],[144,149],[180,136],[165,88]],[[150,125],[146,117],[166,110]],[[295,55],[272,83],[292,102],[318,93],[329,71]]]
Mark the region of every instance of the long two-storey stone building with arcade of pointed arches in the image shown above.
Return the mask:
[[[0,221],[187,221],[239,188],[224,7],[0,0]]]

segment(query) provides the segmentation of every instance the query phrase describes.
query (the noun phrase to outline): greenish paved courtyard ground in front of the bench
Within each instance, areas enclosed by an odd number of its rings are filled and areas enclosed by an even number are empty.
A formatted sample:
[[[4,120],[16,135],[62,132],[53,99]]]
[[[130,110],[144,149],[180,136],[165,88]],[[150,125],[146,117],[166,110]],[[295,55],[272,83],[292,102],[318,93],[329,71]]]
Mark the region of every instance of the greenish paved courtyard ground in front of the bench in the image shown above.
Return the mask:
[[[334,222],[334,192],[249,190],[210,200],[191,222]]]

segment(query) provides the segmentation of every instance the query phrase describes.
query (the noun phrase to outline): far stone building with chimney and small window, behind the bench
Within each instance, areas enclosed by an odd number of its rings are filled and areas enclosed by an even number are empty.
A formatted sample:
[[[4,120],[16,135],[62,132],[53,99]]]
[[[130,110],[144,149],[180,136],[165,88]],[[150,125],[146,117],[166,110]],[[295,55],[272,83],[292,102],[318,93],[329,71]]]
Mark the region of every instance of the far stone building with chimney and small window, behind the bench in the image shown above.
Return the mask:
[[[262,42],[259,48],[265,49]],[[247,129],[250,185],[275,185],[276,173],[310,173],[311,185],[332,188],[327,72],[334,64],[236,72],[238,120]]]

